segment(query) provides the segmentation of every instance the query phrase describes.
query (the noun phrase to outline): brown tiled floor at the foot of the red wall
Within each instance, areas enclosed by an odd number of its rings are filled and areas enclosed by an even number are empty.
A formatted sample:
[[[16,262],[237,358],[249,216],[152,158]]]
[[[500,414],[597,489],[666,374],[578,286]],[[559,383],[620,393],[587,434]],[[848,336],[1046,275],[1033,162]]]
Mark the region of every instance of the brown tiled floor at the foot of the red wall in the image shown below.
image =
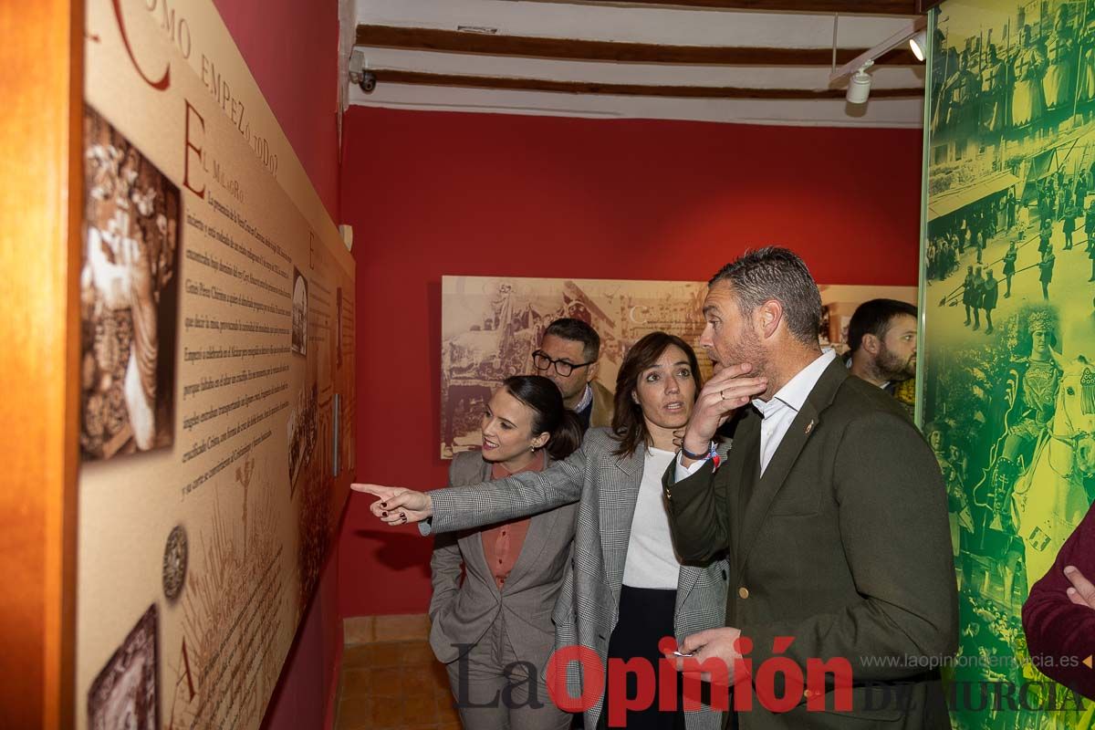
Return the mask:
[[[459,730],[426,616],[348,619],[336,730]]]

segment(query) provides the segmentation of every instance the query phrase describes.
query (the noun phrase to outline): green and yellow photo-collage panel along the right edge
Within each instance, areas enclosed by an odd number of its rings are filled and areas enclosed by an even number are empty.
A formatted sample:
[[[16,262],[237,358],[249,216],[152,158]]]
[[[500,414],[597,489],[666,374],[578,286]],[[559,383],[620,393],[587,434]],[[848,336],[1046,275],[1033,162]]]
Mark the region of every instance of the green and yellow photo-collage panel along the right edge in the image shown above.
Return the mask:
[[[1091,727],[1095,614],[1063,569],[1093,569],[1072,535],[1095,520],[1095,2],[932,22],[920,393],[959,587],[952,718]]]

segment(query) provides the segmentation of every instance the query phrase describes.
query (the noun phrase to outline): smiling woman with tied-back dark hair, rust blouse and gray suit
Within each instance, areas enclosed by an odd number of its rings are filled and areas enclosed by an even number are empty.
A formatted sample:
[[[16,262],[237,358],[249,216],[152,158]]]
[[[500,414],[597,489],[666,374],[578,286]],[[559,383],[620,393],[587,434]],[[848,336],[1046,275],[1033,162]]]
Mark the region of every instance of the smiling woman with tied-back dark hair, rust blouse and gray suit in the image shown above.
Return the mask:
[[[507,378],[484,408],[481,430],[482,450],[452,460],[450,486],[542,472],[581,442],[578,417],[540,375]],[[576,513],[564,505],[435,538],[429,642],[447,665],[465,730],[569,728],[570,715],[548,699],[535,668],[554,648],[551,612]]]

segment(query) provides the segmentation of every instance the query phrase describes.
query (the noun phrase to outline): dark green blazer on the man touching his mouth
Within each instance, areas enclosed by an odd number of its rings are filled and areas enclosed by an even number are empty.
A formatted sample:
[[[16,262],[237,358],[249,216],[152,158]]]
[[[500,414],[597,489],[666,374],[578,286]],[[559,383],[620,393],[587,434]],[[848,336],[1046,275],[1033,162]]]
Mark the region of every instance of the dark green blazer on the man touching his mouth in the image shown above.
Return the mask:
[[[926,668],[958,645],[946,488],[931,448],[894,398],[840,359],[759,479],[762,418],[752,407],[735,418],[717,471],[707,462],[678,484],[675,465],[666,474],[677,551],[685,561],[728,552],[726,624],[752,641],[754,684],[782,656],[804,675],[808,659],[846,658],[855,685],[853,709],[839,714],[809,711],[808,692],[772,712],[754,687],[739,727],[949,728],[938,671]],[[776,654],[776,637],[794,641]],[[831,692],[825,699],[832,709]]]

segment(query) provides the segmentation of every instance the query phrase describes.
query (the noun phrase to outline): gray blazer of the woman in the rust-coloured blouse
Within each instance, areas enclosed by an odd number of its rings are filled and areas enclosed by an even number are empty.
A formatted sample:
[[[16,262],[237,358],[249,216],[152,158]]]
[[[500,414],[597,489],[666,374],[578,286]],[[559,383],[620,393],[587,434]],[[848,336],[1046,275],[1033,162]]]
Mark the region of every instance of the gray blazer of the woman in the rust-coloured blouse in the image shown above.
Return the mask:
[[[549,459],[544,466],[551,463]],[[491,464],[477,451],[457,454],[449,466],[449,486],[480,484],[489,478]],[[438,660],[446,664],[456,661],[504,616],[506,635],[517,657],[537,667],[548,662],[555,648],[551,612],[570,563],[577,512],[577,505],[564,505],[532,517],[517,563],[500,591],[486,564],[482,531],[437,535],[429,561],[434,581],[429,644]]]

